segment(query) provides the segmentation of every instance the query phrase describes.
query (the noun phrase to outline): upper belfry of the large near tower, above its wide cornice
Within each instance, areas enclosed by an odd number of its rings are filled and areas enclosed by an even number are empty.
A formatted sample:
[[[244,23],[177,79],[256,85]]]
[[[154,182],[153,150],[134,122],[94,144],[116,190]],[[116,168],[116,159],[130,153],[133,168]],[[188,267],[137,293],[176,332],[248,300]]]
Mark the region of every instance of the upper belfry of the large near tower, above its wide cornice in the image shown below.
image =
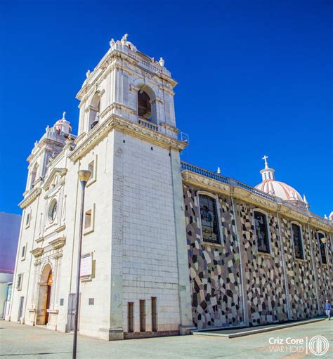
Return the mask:
[[[80,100],[79,131],[89,133],[110,115],[177,137],[174,86],[177,82],[159,61],[137,50],[127,40],[110,41],[110,49],[86,80]]]

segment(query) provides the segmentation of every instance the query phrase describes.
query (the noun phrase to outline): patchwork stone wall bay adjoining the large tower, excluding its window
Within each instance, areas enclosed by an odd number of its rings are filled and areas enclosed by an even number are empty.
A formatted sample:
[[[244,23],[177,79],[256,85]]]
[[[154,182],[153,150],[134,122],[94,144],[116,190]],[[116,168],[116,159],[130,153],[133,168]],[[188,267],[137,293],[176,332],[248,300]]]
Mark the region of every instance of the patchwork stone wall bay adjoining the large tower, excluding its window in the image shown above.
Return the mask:
[[[222,244],[202,242],[197,188],[183,185],[192,316],[199,329],[240,325],[240,254],[229,197],[219,197]]]

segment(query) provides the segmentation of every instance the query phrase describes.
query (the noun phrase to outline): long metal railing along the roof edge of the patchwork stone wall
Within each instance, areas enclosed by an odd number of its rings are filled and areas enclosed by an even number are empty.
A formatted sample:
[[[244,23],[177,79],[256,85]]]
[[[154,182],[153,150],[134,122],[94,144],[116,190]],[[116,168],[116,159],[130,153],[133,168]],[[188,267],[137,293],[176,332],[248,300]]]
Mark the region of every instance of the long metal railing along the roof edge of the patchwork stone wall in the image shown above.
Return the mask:
[[[301,208],[292,203],[288,203],[287,201],[282,200],[279,197],[275,197],[275,195],[270,195],[269,193],[263,192],[262,190],[258,190],[257,188],[254,188],[251,185],[246,185],[245,183],[237,181],[233,178],[221,176],[221,174],[215,174],[214,172],[207,171],[207,169],[202,169],[200,167],[194,166],[193,164],[189,164],[189,163],[183,162],[183,161],[181,161],[181,170],[182,171],[191,171],[195,174],[200,174],[202,176],[214,179],[215,181],[226,183],[226,184],[234,186],[234,187],[244,188],[244,190],[248,190],[249,192],[254,193],[254,195],[263,197],[266,200],[270,200],[275,203],[284,204],[285,206],[287,206],[291,209],[294,209],[295,211],[299,211],[302,214],[306,214],[306,216],[316,218],[323,223],[332,225],[332,223],[330,223],[329,219],[322,218],[321,216],[318,216],[318,214],[314,214],[313,212],[309,211],[307,208]]]

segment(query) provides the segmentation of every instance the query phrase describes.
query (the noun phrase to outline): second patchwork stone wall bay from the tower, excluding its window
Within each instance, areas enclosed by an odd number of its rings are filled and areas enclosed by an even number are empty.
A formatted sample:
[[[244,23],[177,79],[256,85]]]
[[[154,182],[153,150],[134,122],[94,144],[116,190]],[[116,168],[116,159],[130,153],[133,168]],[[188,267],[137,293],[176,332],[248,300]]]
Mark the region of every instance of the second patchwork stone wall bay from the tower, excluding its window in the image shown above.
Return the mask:
[[[287,320],[278,219],[268,213],[270,254],[258,252],[254,233],[254,206],[235,201],[240,221],[249,325]]]

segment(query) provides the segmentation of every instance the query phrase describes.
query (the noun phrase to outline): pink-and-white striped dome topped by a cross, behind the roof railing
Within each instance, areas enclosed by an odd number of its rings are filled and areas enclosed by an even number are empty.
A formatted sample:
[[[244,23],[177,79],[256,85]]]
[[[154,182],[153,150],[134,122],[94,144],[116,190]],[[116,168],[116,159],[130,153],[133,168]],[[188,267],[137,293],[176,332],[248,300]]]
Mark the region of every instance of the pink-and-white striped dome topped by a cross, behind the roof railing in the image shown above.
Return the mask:
[[[276,197],[280,197],[282,200],[285,201],[292,201],[292,202],[302,202],[302,204],[308,205],[306,201],[306,197],[301,197],[299,192],[297,192],[291,185],[287,185],[287,183],[275,181],[275,170],[270,169],[268,167],[267,159],[268,156],[263,156],[265,160],[265,168],[261,169],[260,173],[263,178],[263,181],[256,185],[255,188],[258,190],[262,190],[270,195],[275,195]]]

